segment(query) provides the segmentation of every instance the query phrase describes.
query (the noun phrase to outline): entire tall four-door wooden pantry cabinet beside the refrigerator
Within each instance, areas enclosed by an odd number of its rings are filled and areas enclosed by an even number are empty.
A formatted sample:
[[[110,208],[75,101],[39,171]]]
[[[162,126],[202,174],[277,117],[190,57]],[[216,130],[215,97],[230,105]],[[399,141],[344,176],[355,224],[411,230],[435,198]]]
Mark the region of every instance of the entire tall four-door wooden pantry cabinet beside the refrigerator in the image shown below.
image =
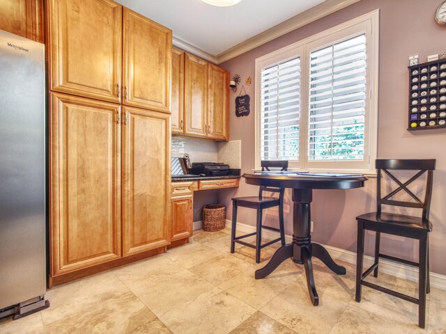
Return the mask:
[[[49,285],[170,243],[172,33],[112,0],[49,0]]]

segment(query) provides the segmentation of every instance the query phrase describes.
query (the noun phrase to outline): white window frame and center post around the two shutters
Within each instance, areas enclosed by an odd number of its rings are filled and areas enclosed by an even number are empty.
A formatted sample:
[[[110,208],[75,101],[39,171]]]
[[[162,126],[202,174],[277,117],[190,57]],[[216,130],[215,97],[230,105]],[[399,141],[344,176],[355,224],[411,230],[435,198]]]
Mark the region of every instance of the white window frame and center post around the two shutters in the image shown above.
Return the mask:
[[[310,161],[308,159],[309,110],[309,54],[317,49],[364,33],[366,35],[366,128],[364,133],[364,160]],[[255,77],[255,166],[261,161],[261,72],[264,68],[300,56],[300,122],[299,161],[290,161],[290,170],[334,171],[376,175],[374,161],[378,148],[378,65],[379,65],[379,10],[339,24],[269,54],[256,58]]]

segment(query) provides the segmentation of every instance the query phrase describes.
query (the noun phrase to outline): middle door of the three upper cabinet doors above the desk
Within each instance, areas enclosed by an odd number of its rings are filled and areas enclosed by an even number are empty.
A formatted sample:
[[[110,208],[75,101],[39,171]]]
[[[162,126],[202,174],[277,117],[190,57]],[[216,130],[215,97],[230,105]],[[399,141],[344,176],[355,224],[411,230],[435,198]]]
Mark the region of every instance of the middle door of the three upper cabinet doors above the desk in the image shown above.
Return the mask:
[[[208,63],[185,56],[185,134],[206,137]]]

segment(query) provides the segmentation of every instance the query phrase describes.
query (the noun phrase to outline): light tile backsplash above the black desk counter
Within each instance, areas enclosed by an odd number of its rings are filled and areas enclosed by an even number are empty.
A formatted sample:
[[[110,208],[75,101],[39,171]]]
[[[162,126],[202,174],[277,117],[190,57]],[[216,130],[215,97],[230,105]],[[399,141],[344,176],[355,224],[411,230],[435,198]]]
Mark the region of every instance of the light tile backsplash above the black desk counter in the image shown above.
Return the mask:
[[[222,162],[231,168],[241,168],[241,141],[216,143],[206,139],[172,136],[172,157],[189,154],[191,162]]]

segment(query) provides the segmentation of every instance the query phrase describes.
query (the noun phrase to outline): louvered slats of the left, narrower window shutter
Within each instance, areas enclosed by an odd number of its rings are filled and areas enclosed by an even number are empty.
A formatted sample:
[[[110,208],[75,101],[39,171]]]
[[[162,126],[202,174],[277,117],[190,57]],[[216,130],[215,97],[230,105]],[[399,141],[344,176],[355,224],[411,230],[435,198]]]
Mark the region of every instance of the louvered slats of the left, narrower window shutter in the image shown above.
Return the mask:
[[[261,159],[298,160],[300,58],[261,72]]]

